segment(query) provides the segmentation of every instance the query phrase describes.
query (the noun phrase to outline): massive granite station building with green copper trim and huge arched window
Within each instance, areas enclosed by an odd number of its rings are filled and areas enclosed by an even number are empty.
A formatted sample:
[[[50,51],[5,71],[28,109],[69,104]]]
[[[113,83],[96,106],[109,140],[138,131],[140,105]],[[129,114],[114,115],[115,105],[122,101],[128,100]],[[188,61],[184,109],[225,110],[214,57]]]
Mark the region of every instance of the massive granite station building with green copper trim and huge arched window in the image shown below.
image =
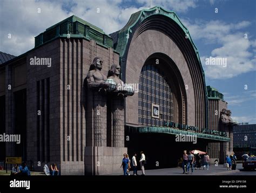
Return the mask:
[[[105,76],[119,64],[134,95],[121,100],[87,89],[95,57]],[[110,35],[71,16],[9,59],[0,65],[0,134],[21,134],[22,142],[1,144],[1,159],[22,156],[36,170],[56,162],[63,175],[101,175],[120,173],[126,152],[143,150],[148,167],[159,168],[177,166],[184,149],[220,162],[232,151],[227,102],[206,87],[197,47],[172,11],[138,11]],[[177,135],[197,142],[177,142]]]

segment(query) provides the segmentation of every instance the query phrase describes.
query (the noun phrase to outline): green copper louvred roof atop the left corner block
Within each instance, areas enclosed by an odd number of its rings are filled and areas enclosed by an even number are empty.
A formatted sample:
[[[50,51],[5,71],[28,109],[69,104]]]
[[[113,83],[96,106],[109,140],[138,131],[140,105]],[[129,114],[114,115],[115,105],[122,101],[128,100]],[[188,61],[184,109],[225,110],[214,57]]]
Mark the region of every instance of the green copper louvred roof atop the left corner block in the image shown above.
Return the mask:
[[[35,37],[35,47],[57,37],[68,37],[68,34],[71,38],[93,39],[99,44],[113,47],[113,39],[109,35],[99,27],[96,27],[77,16],[71,16],[48,27],[43,33],[40,33]]]

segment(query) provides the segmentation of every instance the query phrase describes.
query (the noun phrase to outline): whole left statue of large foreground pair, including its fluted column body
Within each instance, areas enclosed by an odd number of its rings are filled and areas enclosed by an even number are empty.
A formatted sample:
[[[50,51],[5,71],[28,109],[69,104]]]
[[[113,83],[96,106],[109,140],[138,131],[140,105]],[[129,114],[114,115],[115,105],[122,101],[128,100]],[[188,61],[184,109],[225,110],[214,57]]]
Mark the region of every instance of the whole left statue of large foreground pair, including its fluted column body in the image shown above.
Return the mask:
[[[95,57],[86,77],[86,146],[106,147],[106,76],[102,73],[103,61]]]

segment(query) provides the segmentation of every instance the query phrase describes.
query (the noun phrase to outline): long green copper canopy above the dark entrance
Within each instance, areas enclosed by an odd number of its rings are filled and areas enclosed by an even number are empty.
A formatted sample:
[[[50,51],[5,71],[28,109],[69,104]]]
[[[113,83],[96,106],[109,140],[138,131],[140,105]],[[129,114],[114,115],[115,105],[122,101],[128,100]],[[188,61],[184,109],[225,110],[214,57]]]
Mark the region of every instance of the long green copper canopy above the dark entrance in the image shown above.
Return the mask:
[[[230,138],[223,136],[216,136],[204,133],[194,133],[187,130],[181,129],[173,129],[170,127],[131,127],[126,126],[126,131],[128,133],[166,133],[172,135],[197,135],[198,138],[207,139],[207,140],[215,140],[215,141],[230,141]]]

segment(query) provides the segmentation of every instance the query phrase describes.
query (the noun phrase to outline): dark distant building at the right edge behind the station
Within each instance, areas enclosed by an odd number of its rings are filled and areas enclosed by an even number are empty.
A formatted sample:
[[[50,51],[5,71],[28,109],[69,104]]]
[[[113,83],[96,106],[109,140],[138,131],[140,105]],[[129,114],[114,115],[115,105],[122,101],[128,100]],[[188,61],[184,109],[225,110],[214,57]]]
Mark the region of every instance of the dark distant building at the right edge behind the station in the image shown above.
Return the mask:
[[[256,148],[256,124],[234,126],[233,147]]]

